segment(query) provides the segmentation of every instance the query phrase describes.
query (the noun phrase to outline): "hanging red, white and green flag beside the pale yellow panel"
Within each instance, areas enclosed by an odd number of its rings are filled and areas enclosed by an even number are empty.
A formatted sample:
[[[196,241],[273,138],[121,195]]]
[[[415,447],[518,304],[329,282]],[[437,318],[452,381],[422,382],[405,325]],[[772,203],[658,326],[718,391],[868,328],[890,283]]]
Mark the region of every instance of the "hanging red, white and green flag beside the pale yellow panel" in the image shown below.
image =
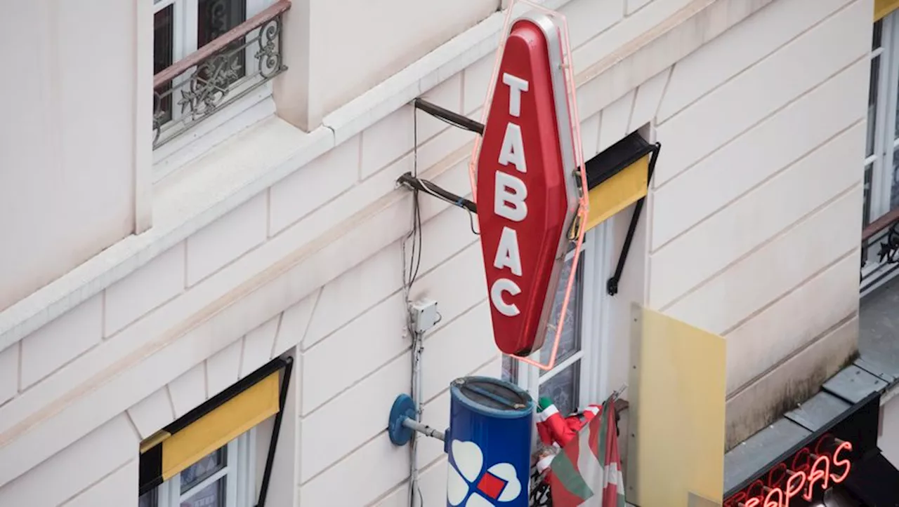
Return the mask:
[[[554,507],[625,507],[613,398],[549,465]]]

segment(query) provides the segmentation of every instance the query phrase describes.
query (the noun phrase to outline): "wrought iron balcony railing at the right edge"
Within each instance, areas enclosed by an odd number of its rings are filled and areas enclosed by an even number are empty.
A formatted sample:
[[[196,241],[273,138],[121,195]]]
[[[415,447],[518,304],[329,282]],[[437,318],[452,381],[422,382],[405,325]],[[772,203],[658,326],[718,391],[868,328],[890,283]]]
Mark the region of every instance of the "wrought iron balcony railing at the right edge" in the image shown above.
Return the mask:
[[[899,275],[899,208],[869,223],[861,232],[861,294],[895,275]]]

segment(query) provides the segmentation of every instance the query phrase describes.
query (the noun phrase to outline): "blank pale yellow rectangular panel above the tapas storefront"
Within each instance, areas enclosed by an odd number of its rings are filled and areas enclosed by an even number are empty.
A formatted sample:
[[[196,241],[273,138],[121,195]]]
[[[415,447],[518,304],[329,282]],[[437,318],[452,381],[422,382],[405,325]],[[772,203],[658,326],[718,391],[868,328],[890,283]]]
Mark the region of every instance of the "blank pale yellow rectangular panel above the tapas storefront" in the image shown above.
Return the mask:
[[[632,313],[628,503],[720,505],[725,339],[636,304]]]

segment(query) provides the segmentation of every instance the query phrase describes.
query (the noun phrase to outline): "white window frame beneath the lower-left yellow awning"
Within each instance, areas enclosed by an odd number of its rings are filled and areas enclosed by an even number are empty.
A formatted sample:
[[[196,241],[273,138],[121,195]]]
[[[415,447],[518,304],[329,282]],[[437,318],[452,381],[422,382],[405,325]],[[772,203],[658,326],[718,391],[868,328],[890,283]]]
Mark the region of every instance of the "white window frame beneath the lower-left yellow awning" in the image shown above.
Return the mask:
[[[156,486],[156,505],[151,507],[179,507],[191,495],[226,478],[225,507],[253,507],[256,492],[256,428],[251,428],[223,446],[225,467],[181,493],[181,472]],[[222,448],[219,448],[222,449]]]

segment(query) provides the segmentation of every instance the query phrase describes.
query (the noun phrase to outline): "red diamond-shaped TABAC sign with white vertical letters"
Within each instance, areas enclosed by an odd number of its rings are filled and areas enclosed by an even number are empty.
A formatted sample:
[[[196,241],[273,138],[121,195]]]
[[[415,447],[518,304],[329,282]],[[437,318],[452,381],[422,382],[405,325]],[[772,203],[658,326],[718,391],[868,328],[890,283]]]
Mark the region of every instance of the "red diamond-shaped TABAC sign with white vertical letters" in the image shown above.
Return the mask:
[[[543,345],[577,211],[562,45],[547,15],[512,24],[477,159],[476,199],[496,345]]]

